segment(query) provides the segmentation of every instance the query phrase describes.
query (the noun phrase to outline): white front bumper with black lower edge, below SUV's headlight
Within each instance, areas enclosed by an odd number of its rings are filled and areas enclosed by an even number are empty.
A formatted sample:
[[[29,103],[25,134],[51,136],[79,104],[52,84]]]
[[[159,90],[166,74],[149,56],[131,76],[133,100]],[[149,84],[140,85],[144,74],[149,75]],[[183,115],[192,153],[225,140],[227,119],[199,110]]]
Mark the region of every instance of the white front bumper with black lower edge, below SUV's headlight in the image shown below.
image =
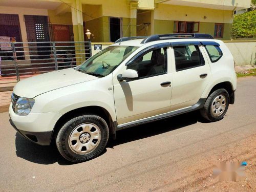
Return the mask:
[[[39,145],[50,145],[54,126],[61,114],[58,112],[30,113],[27,116],[16,115],[9,108],[10,123],[26,139]]]

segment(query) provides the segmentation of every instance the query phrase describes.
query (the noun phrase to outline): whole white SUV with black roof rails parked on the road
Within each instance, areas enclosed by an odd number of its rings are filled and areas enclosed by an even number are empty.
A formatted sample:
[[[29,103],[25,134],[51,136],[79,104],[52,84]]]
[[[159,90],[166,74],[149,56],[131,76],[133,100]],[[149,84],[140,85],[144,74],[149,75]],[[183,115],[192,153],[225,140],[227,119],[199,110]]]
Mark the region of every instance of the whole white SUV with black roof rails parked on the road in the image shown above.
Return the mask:
[[[18,82],[10,122],[30,141],[56,142],[64,158],[81,162],[126,127],[194,110],[222,119],[236,80],[230,51],[210,35],[123,37],[76,68]]]

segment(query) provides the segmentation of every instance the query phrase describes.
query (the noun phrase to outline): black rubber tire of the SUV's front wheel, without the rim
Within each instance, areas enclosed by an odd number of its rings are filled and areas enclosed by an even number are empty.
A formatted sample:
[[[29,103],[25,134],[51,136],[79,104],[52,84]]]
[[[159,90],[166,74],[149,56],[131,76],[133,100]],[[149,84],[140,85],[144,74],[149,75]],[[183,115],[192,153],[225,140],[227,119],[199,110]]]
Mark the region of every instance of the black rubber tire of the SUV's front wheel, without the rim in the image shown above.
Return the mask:
[[[73,130],[82,123],[92,123],[98,126],[101,139],[99,144],[95,149],[88,154],[77,154],[72,148],[69,146],[69,137]],[[105,148],[106,143],[109,140],[109,127],[106,124],[105,120],[97,115],[82,115],[79,117],[75,117],[68,121],[65,125],[61,127],[57,134],[56,145],[59,153],[68,161],[71,162],[83,162],[91,160],[97,157]]]

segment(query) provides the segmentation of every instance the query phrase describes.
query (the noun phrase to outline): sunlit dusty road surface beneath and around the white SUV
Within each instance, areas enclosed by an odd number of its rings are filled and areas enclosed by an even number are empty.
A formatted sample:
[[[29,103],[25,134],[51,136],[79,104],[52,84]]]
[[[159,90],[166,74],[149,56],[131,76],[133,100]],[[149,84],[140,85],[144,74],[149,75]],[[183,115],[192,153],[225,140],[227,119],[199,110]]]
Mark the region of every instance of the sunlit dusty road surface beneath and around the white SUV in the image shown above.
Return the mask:
[[[72,164],[53,146],[33,144],[0,113],[0,191],[255,191],[256,77],[238,79],[224,119],[198,112],[117,133],[99,157]],[[217,162],[246,161],[241,181],[218,181]]]

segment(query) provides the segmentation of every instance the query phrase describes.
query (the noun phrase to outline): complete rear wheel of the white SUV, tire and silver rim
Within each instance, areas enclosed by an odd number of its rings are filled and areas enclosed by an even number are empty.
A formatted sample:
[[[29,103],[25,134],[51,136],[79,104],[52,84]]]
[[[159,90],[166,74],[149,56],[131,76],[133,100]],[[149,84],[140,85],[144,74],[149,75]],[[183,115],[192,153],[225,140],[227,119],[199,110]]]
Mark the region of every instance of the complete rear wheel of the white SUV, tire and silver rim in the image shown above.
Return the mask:
[[[228,92],[225,89],[219,89],[209,95],[200,113],[209,121],[218,121],[224,117],[228,106]]]

